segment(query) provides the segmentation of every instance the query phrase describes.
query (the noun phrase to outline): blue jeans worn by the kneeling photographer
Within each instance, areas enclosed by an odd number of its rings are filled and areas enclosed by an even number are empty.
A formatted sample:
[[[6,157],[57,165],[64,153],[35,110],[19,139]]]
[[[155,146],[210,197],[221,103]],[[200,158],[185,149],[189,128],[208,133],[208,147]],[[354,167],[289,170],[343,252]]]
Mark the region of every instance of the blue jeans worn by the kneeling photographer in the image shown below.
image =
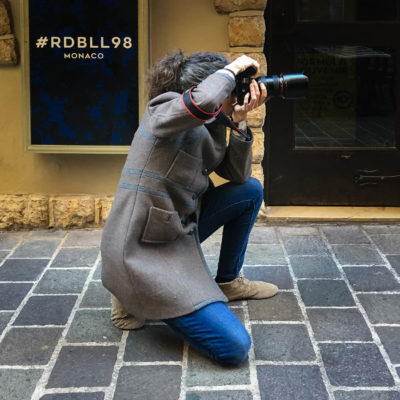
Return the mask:
[[[228,182],[203,195],[198,226],[200,242],[224,227],[217,282],[228,282],[238,276],[262,199],[263,188],[254,178],[243,184]],[[242,362],[250,348],[245,327],[222,302],[164,322],[192,347],[221,364]]]

